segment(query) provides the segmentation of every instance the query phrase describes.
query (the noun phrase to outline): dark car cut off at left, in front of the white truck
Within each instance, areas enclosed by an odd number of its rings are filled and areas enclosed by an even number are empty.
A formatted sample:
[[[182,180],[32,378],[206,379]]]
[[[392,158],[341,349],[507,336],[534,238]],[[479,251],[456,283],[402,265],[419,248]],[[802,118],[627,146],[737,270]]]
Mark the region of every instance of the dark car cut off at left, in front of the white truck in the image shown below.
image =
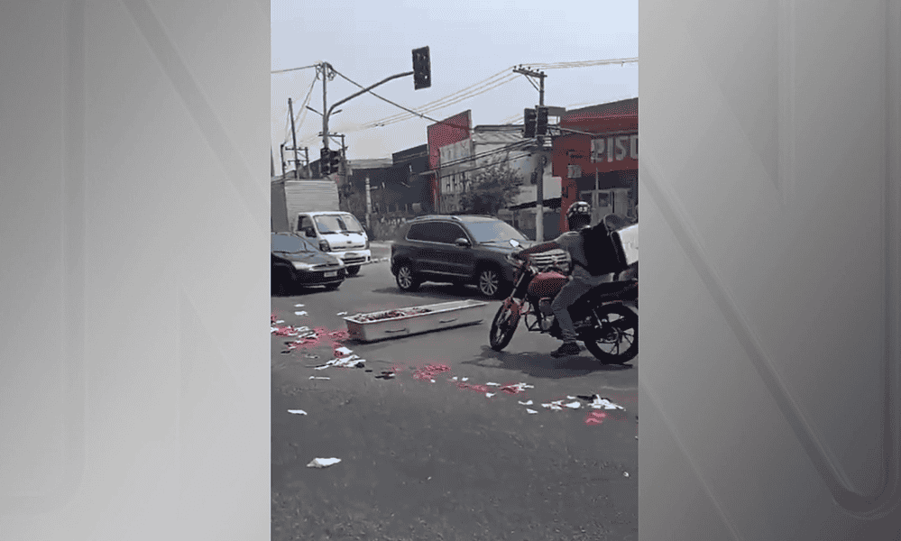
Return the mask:
[[[347,277],[345,264],[321,252],[307,239],[289,233],[272,234],[272,292],[284,293],[298,286],[337,289]]]

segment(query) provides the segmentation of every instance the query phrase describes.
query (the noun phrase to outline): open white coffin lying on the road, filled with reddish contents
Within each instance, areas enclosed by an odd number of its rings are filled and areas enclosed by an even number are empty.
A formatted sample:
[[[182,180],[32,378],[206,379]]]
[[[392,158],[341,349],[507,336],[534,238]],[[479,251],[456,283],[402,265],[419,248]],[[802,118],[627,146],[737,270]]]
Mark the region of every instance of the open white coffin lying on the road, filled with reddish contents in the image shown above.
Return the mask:
[[[344,319],[351,338],[373,342],[481,323],[487,306],[487,302],[466,299],[357,314]]]

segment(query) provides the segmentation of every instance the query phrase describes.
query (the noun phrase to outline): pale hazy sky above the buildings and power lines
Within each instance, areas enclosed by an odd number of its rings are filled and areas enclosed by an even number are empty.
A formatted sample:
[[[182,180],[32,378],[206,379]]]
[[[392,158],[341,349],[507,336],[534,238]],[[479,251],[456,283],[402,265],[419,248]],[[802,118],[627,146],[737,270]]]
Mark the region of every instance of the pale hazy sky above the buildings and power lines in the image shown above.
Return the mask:
[[[513,73],[514,66],[636,58],[638,28],[638,0],[271,0],[271,69],[327,61],[341,76],[368,87],[412,71],[412,50],[428,46],[431,87],[414,90],[407,76],[373,92],[432,120],[371,94],[339,105],[341,112],[329,119],[330,133],[345,134],[349,160],[391,158],[393,152],[426,143],[433,120],[467,109],[473,125],[521,124],[523,108],[538,104],[538,89]],[[574,109],[638,96],[638,63],[543,70],[545,105]],[[327,81],[329,106],[360,90],[341,76]],[[322,117],[302,106],[322,111],[322,82],[314,84],[315,78],[316,69],[271,74],[277,171],[281,144],[291,146],[289,97],[298,147],[308,146],[310,160],[318,159]],[[429,105],[438,100],[444,101]],[[400,120],[400,115],[408,118]],[[385,120],[391,122],[372,125]]]

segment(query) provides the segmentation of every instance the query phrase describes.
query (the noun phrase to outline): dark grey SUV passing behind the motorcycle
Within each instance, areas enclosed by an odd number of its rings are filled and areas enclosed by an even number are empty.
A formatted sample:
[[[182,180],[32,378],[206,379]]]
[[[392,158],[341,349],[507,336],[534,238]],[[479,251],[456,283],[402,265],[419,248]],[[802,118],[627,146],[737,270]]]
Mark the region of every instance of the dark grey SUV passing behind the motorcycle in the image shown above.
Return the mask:
[[[510,241],[517,244],[514,247]],[[391,244],[391,273],[398,287],[415,291],[425,281],[474,284],[488,298],[506,295],[515,268],[508,256],[534,244],[492,216],[429,215],[400,226]],[[563,250],[535,254],[539,267],[568,269]]]

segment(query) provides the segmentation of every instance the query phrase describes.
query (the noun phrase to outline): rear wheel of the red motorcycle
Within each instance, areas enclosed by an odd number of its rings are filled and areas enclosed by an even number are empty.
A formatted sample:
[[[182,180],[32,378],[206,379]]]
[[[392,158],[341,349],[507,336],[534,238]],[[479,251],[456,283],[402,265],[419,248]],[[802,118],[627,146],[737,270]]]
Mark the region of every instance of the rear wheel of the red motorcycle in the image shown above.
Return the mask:
[[[630,362],[639,354],[639,316],[620,303],[594,309],[598,319],[585,348],[604,364]]]

